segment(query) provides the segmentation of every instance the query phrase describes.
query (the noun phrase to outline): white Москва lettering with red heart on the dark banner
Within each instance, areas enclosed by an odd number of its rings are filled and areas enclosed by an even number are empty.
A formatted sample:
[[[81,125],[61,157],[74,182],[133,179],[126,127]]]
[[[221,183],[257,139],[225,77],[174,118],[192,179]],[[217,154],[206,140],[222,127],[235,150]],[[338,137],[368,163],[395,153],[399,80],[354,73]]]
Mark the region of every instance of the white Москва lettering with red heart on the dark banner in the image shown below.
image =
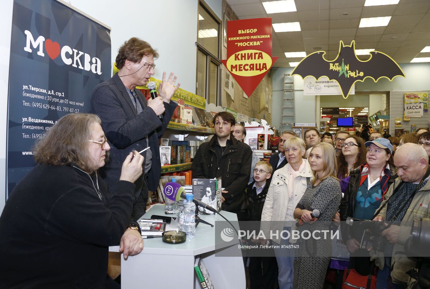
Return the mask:
[[[25,35],[27,35],[27,43],[24,47],[24,50],[27,52],[32,52],[30,48],[30,43],[33,46],[34,49],[37,49],[39,46],[39,51],[37,52],[37,55],[45,56],[43,53],[43,41],[45,41],[45,37],[40,35],[37,37],[36,41],[34,41],[33,35],[30,31],[25,30]],[[45,41],[45,50],[46,53],[48,53],[48,56],[54,60],[58,57],[58,55],[61,54],[61,60],[66,65],[72,65],[73,67],[78,67],[82,70],[90,71],[92,73],[97,73],[98,75],[101,74],[101,62],[100,59],[97,57],[91,58],[91,56],[88,53],[80,52],[76,49],[71,49],[70,46],[64,45],[63,48],[60,49],[60,45],[58,42],[52,42],[50,39],[46,39]],[[72,55],[73,55],[73,61],[72,61]],[[83,65],[81,63],[81,56],[83,55]],[[90,61],[92,64],[90,64]]]

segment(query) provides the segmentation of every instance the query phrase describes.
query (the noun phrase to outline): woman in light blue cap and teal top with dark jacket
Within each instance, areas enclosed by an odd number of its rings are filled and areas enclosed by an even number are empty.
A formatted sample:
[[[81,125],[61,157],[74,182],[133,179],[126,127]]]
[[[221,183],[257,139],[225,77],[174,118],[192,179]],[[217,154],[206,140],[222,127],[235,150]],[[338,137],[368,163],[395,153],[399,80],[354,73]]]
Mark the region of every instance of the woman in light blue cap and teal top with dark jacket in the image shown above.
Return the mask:
[[[346,221],[348,217],[372,219],[390,184],[397,177],[397,169],[393,164],[393,146],[389,140],[378,138],[364,143],[364,146],[367,147],[365,164],[349,173],[349,183],[340,205],[341,221]],[[361,236],[354,236],[351,230],[349,225],[342,228],[342,237],[350,252],[349,267],[360,275],[368,275],[371,267],[369,255],[365,251],[363,254],[363,249],[359,249]],[[363,255],[368,257],[360,257]]]

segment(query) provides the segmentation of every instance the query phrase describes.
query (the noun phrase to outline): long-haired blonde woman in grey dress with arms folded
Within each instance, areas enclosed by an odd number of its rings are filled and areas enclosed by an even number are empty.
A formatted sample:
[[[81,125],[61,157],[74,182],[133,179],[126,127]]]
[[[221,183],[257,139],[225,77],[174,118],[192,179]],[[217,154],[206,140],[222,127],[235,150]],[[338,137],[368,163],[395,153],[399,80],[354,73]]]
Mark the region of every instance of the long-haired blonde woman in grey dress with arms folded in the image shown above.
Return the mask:
[[[329,223],[338,211],[342,198],[341,186],[336,178],[335,149],[329,143],[317,143],[312,147],[308,160],[315,176],[294,210],[294,217],[305,223],[298,227],[298,231],[329,230]],[[312,210],[319,210],[319,218],[311,216]],[[294,289],[320,289],[324,285],[332,242],[329,237],[325,240],[323,235],[320,236],[322,238],[319,240],[312,237],[298,240],[299,248],[294,259]]]

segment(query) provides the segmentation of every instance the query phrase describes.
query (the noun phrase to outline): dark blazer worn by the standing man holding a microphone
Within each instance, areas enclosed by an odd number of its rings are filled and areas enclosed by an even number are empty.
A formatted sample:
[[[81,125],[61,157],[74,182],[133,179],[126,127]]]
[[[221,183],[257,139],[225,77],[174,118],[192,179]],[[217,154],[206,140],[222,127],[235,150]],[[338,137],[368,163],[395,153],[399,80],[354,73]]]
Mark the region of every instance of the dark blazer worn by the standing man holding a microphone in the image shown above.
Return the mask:
[[[160,181],[161,161],[158,139],[169,124],[170,118],[177,106],[176,103],[164,103],[166,111],[160,120],[140,90],[135,94],[141,103],[143,111],[137,114],[135,106],[118,74],[107,81],[97,85],[91,96],[91,113],[100,116],[101,127],[111,146],[110,158],[104,167],[100,168],[100,175],[113,186],[119,179],[121,168],[126,156],[134,149],[140,151],[146,147],[145,137],[148,137],[148,146],[151,146],[152,166],[148,173],[147,188],[155,191]],[[146,158],[146,152],[142,153]],[[145,212],[147,190],[144,186],[144,174],[136,181],[135,203],[132,219],[137,220]]]

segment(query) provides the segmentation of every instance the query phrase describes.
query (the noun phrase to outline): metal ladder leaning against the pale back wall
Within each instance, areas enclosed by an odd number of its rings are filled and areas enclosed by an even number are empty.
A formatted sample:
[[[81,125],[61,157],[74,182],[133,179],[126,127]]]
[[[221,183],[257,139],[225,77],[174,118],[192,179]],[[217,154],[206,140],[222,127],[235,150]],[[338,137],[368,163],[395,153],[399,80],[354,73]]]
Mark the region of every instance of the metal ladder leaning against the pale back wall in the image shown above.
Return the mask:
[[[295,122],[294,81],[290,73],[284,74],[280,131],[291,131]]]

